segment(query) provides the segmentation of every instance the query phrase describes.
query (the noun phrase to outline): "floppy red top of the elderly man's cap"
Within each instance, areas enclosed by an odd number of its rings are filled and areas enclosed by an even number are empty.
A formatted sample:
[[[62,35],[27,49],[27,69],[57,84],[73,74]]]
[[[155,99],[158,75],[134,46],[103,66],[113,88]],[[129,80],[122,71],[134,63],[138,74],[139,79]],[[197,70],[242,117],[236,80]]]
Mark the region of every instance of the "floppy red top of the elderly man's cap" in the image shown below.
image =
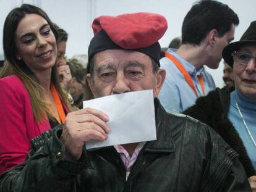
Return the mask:
[[[116,17],[100,16],[93,23],[94,35],[104,30],[123,49],[139,49],[156,43],[167,30],[166,19],[159,14],[139,12]]]

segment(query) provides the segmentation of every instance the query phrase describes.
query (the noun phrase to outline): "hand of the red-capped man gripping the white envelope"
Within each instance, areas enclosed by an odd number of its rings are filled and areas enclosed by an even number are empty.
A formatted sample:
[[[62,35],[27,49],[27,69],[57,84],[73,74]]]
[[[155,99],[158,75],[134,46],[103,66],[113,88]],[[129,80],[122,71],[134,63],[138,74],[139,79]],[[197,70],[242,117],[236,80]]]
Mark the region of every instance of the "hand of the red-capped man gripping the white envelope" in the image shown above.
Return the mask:
[[[85,108],[67,114],[61,141],[66,146],[67,160],[79,160],[83,145],[90,140],[104,141],[109,133],[108,116],[101,111]]]

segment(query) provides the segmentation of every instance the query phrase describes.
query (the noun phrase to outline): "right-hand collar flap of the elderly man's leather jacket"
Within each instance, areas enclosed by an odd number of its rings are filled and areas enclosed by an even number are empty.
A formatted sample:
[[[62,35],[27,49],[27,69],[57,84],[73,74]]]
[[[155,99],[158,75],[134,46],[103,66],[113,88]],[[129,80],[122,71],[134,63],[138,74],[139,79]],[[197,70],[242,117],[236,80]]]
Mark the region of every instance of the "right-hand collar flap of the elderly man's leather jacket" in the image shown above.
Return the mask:
[[[174,140],[171,136],[171,123],[168,114],[161,106],[160,101],[156,98],[155,117],[156,117],[156,140],[148,141],[145,144],[144,152],[169,153],[175,151]]]

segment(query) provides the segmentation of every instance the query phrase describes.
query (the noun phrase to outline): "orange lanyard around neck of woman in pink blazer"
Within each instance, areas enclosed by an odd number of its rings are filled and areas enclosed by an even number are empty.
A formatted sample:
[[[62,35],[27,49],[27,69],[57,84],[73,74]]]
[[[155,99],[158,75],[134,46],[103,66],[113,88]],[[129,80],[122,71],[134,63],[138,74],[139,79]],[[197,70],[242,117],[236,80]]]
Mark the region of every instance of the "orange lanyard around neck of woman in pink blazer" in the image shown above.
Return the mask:
[[[61,99],[59,99],[59,94],[58,94],[55,86],[53,85],[53,83],[51,83],[50,88],[51,88],[51,94],[53,94],[53,99],[54,99],[55,105],[58,110],[59,117],[61,118],[61,122],[59,122],[58,118],[56,118],[54,113],[52,115],[58,121],[59,124],[64,123],[66,120],[66,114],[64,112],[64,109],[63,109],[63,106],[61,103]]]

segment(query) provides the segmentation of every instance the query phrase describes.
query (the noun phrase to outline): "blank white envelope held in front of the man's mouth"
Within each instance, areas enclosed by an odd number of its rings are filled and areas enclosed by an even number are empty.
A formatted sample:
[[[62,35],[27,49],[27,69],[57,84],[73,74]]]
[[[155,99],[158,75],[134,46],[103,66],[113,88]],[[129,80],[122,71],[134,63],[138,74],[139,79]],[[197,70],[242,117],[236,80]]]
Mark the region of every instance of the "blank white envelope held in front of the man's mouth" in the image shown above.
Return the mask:
[[[88,141],[87,149],[156,140],[153,90],[83,101],[83,108],[86,107],[105,112],[109,117],[107,125],[110,129],[106,141]]]

